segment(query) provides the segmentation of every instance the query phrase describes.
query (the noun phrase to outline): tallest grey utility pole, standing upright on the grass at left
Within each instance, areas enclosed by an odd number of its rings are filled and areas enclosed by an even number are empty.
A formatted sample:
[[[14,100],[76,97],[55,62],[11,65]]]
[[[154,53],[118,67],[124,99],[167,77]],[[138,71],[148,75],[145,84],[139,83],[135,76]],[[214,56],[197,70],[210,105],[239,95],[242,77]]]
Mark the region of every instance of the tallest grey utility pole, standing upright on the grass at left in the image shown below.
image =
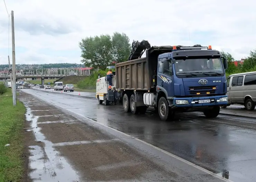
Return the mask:
[[[12,103],[17,105],[16,100],[16,64],[15,64],[15,39],[14,39],[14,15],[11,11],[11,41],[12,41]]]

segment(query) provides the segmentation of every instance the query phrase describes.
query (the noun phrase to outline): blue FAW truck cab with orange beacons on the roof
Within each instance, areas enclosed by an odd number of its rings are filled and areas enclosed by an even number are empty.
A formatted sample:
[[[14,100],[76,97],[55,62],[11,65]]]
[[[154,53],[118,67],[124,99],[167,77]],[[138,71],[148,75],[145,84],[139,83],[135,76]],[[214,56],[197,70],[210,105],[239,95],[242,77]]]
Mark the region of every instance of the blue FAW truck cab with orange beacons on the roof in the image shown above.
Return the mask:
[[[158,55],[156,105],[166,107],[159,104],[165,97],[174,111],[203,111],[206,117],[216,117],[220,105],[227,104],[225,69],[227,60],[211,46],[173,46],[171,52]]]

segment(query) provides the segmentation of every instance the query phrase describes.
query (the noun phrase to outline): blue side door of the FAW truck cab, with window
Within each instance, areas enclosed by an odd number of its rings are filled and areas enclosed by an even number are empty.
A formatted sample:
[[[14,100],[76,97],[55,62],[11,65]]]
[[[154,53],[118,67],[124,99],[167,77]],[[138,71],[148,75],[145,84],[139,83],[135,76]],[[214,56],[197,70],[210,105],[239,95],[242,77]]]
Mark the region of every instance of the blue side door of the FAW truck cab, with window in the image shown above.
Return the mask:
[[[173,97],[173,72],[172,63],[167,60],[159,60],[157,85],[166,90],[166,97]]]

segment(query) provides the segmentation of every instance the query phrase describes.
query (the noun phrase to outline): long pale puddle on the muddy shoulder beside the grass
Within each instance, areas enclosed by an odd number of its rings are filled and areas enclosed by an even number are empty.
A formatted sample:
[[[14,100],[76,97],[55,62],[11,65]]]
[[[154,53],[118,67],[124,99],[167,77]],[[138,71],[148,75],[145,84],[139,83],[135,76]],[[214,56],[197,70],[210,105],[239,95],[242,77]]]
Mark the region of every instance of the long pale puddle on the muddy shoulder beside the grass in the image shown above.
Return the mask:
[[[38,117],[32,115],[30,108],[27,108],[26,119],[31,122],[30,127],[36,141],[44,143],[44,147],[29,146],[29,152],[31,153],[29,156],[30,178],[34,182],[80,181],[78,172],[72,168],[63,156],[60,156],[60,152],[54,149],[54,144],[46,140],[43,133],[40,132],[41,128],[37,127]]]

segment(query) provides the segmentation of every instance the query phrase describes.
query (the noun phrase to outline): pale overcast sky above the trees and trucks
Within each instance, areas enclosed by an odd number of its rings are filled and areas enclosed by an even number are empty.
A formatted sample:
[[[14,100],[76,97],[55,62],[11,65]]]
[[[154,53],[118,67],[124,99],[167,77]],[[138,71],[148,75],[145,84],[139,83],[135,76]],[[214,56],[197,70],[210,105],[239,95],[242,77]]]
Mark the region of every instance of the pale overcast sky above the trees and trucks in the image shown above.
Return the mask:
[[[130,41],[145,39],[151,45],[212,45],[237,60],[256,49],[253,0],[5,2],[8,13],[14,11],[16,64],[80,63],[82,38],[115,31],[126,33]],[[8,22],[0,0],[0,64],[8,63],[9,52],[11,58]]]

